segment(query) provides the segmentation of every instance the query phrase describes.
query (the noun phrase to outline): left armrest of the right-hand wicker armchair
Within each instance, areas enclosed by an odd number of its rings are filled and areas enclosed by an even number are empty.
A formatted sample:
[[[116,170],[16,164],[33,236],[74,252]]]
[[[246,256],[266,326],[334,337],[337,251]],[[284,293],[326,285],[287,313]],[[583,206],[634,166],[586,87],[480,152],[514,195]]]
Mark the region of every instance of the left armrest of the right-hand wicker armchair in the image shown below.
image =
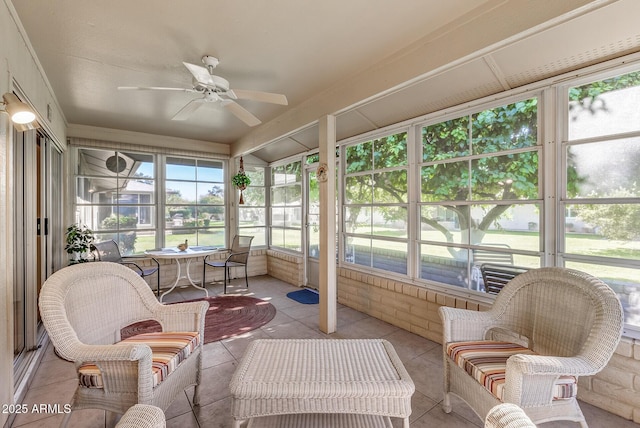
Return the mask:
[[[485,332],[497,322],[491,312],[477,312],[441,306],[444,343],[463,340],[483,340]]]

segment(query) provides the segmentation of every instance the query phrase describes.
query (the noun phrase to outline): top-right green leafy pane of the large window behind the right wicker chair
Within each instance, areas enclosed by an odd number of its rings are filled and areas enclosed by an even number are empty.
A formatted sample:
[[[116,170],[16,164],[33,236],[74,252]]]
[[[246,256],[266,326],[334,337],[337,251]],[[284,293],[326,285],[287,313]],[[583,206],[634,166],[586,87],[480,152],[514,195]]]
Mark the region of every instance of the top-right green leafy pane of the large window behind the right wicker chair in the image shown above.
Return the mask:
[[[473,115],[473,153],[533,147],[538,142],[538,99],[532,98]]]

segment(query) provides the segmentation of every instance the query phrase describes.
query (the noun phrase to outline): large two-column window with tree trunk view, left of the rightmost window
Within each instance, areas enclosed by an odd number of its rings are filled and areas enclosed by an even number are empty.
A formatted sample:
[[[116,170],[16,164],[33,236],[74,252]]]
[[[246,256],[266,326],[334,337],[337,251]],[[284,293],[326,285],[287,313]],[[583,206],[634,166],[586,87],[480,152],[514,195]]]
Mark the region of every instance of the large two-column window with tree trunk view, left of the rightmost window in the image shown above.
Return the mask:
[[[419,277],[484,291],[486,255],[540,266],[537,98],[422,127]]]

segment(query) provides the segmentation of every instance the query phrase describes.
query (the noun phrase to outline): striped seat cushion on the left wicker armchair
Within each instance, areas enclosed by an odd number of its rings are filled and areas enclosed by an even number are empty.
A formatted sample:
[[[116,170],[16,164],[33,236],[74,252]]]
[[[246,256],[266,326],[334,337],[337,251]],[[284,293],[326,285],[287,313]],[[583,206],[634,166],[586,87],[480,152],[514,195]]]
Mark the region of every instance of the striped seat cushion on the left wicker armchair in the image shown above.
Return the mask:
[[[174,371],[200,343],[197,332],[157,332],[131,336],[118,343],[144,343],[151,348],[153,386],[155,387]],[[117,344],[116,344],[117,345]],[[80,385],[87,388],[103,388],[102,373],[92,363],[78,369]]]

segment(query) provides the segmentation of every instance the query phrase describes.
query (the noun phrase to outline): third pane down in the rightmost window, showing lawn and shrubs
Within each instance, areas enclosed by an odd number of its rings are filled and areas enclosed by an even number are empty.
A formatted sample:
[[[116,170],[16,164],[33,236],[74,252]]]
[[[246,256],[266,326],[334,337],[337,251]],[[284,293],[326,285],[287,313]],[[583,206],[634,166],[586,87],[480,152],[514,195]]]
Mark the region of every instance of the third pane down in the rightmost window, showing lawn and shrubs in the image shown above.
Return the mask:
[[[640,260],[639,204],[576,204],[566,213],[567,253]]]

